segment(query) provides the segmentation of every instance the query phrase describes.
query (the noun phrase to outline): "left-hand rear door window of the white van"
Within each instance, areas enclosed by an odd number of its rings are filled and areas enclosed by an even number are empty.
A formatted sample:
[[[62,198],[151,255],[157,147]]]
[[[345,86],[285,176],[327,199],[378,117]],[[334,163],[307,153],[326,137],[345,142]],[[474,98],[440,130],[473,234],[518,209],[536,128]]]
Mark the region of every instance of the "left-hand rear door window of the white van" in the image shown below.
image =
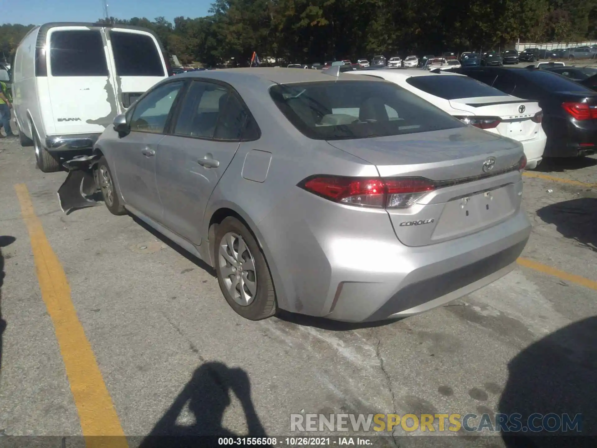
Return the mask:
[[[54,31],[50,35],[52,76],[107,76],[99,30]]]

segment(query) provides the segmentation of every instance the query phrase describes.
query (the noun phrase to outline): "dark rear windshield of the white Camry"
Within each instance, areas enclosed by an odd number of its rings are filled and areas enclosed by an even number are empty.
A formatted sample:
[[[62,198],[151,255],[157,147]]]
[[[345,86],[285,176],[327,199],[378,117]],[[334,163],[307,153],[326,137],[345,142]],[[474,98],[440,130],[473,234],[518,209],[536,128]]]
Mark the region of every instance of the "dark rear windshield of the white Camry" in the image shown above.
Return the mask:
[[[408,84],[444,100],[479,96],[508,96],[497,88],[483,84],[468,76],[439,74],[436,76],[411,76]]]

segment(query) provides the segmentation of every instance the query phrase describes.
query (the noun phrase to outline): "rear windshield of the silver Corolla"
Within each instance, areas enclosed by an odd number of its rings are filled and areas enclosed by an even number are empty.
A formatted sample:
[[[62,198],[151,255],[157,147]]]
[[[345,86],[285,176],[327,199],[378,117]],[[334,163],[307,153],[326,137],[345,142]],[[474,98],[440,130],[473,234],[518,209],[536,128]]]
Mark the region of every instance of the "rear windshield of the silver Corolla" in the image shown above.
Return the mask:
[[[311,139],[364,139],[465,126],[390,82],[278,84],[270,88],[270,95],[286,118]]]

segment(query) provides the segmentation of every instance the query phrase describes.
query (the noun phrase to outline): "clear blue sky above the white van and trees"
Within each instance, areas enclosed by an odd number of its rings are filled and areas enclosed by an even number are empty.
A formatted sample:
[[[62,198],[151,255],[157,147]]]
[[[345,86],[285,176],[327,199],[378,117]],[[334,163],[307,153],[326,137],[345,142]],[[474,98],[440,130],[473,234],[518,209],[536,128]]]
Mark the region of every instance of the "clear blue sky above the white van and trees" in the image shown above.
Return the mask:
[[[102,0],[0,0],[0,23],[94,22],[103,16]],[[118,19],[164,16],[207,16],[213,0],[106,0],[108,13]]]

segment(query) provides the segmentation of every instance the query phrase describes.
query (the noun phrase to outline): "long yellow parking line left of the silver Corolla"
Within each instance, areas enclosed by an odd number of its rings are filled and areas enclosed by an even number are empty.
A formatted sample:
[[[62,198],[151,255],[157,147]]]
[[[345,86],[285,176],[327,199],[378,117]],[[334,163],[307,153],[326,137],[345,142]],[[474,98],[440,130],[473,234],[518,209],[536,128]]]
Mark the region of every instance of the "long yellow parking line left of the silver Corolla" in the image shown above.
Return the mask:
[[[70,299],[70,286],[47,238],[24,183],[14,186],[31,241],[42,299],[54,323],[56,339],[69,379],[87,447],[127,448],[112,398],[101,377],[85,331]],[[120,436],[120,437],[97,437]]]

